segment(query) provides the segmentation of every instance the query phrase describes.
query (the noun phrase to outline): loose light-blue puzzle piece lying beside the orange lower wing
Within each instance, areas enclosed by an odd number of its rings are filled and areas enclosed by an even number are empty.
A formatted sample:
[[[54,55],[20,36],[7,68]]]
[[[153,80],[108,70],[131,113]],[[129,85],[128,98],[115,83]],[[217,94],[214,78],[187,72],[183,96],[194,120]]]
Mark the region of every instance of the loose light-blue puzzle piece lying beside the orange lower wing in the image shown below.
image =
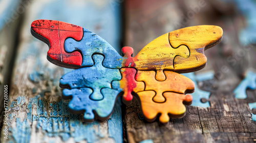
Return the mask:
[[[214,78],[214,74],[212,72],[207,72],[204,74],[199,74],[195,75],[195,73],[187,73],[187,74],[182,74],[183,76],[188,77],[190,80],[192,80],[195,83],[195,92],[191,93],[191,96],[193,96],[193,101],[191,106],[198,106],[198,107],[210,107],[209,102],[202,103],[201,99],[209,99],[210,97],[210,92],[208,91],[203,91],[198,88],[197,82],[198,81],[205,81],[205,80],[210,80]]]

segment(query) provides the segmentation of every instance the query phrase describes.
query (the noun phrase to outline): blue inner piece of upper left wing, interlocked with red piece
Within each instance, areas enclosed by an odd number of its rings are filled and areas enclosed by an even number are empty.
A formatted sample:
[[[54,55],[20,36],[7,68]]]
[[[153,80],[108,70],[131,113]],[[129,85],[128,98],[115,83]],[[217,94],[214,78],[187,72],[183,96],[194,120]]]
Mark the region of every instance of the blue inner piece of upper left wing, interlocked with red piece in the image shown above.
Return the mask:
[[[76,41],[73,38],[67,38],[64,43],[64,48],[70,53],[79,50],[82,53],[82,66],[92,66],[92,55],[103,54],[105,59],[102,65],[104,67],[122,67],[123,57],[103,38],[84,28],[82,40]]]

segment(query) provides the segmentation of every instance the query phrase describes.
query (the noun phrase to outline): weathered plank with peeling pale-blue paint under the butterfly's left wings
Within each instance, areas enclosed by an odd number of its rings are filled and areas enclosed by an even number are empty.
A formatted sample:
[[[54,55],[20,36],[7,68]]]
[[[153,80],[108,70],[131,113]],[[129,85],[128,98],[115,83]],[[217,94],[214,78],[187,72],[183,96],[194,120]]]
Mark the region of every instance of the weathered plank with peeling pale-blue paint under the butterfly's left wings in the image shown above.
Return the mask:
[[[116,11],[119,11],[118,7],[111,7],[109,2],[30,3],[26,19],[20,26],[22,34],[19,35],[18,54],[12,57],[15,58],[15,66],[7,111],[9,132],[7,140],[1,134],[2,142],[122,142],[120,102],[115,104],[112,116],[104,122],[86,124],[82,122],[82,115],[69,113],[68,101],[61,98],[59,79],[70,69],[47,61],[48,45],[30,34],[33,20],[56,19],[94,30],[119,47],[119,17]],[[109,19],[104,18],[107,15]],[[109,34],[110,31],[116,35]]]

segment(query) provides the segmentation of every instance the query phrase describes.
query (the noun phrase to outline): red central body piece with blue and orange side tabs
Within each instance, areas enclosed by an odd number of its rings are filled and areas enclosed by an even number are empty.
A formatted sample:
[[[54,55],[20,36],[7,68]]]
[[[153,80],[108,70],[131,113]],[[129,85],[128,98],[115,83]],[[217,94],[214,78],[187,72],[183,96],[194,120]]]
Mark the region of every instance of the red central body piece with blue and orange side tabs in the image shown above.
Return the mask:
[[[133,100],[132,91],[143,91],[145,88],[144,82],[137,82],[135,80],[136,69],[134,68],[121,68],[122,79],[120,81],[113,81],[112,88],[123,91],[123,102],[131,104]]]

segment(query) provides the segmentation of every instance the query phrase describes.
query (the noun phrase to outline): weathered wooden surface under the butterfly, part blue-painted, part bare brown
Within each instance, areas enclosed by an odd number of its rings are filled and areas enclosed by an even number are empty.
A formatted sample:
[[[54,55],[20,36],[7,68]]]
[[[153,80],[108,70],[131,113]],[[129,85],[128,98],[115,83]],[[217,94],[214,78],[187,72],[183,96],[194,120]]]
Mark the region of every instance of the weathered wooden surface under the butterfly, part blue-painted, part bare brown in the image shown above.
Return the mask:
[[[110,120],[86,124],[82,122],[82,116],[68,112],[68,101],[61,100],[56,79],[68,70],[56,67],[46,60],[48,46],[32,38],[30,24],[35,19],[56,19],[90,27],[91,31],[110,42],[113,47],[117,47],[119,40],[115,42],[114,39],[120,36],[113,38],[113,35],[117,35],[120,29],[110,22],[115,21],[113,15],[109,17],[110,21],[90,15],[87,18],[81,18],[85,17],[86,13],[105,17],[104,14],[111,13],[113,5],[102,9],[99,3],[89,5],[83,1],[41,2],[43,1],[33,2],[27,9],[26,20],[21,29],[22,34],[19,36],[19,46],[16,50],[18,54],[15,58],[12,86],[9,90],[10,139],[8,142],[255,141],[256,123],[251,120],[252,108],[248,104],[252,105],[256,102],[256,92],[247,90],[246,99],[236,99],[233,92],[244,79],[245,71],[248,68],[256,68],[255,45],[249,42],[249,46],[244,46],[238,40],[239,31],[246,27],[244,20],[247,19],[239,14],[236,7],[222,1],[218,3],[205,1],[206,5],[184,23],[183,15],[193,10],[190,6],[198,5],[199,1],[141,0],[138,2],[131,0],[121,3],[124,4],[126,11],[124,16],[127,18],[124,45],[133,47],[135,55],[141,47],[163,33],[182,27],[217,25],[223,28],[223,41],[205,52],[207,66],[202,69],[202,72],[213,70],[215,77],[197,80],[195,83],[200,90],[210,92],[210,97],[206,100],[209,104],[205,108],[185,106],[186,115],[183,118],[171,118],[166,125],[161,125],[158,121],[147,123],[139,109],[139,102],[134,98],[132,105],[122,105],[124,107],[122,111],[121,105],[116,104]],[[116,4],[114,6],[120,6],[120,3],[114,2],[114,4]],[[84,6],[88,6],[88,9],[84,9]],[[69,9],[63,9],[63,7],[69,7]],[[75,14],[72,13],[72,9],[77,10]],[[5,37],[6,34],[3,35]],[[244,55],[241,54],[243,52]],[[9,58],[13,57],[15,56]],[[5,72],[11,73],[10,70]],[[202,75],[201,71],[193,74],[196,77]],[[2,142],[5,141],[3,139],[1,132]]]

